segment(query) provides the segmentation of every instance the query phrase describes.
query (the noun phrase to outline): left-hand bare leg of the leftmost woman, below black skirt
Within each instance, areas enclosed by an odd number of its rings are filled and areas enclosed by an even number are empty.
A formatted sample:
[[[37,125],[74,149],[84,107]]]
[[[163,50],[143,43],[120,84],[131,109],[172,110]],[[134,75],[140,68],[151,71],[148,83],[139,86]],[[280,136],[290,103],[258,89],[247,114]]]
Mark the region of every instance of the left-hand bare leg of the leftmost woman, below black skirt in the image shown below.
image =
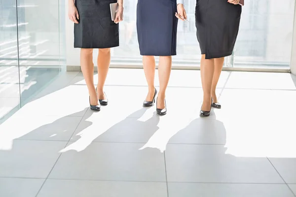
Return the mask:
[[[93,49],[80,50],[80,66],[90,96],[90,104],[98,105],[97,94],[94,86],[94,63],[92,61]]]

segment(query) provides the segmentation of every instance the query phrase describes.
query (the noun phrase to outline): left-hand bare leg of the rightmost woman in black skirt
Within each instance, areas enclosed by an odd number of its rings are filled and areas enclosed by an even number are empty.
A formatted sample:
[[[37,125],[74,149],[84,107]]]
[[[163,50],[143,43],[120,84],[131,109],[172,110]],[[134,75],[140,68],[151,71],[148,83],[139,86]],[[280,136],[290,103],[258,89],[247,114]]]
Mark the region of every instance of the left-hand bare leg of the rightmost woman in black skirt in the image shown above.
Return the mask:
[[[203,111],[210,111],[211,109],[214,69],[214,59],[206,60],[205,55],[201,55],[200,74],[204,94],[201,110]]]

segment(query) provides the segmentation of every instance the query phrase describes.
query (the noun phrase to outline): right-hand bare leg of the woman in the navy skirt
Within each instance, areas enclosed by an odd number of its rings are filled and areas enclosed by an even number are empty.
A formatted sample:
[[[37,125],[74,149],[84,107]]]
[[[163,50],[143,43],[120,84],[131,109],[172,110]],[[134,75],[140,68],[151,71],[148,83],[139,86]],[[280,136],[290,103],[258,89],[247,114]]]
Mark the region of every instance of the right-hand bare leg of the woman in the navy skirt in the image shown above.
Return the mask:
[[[165,108],[165,91],[169,83],[172,69],[172,56],[160,56],[158,66],[158,78],[159,78],[159,94],[157,99],[157,108]]]

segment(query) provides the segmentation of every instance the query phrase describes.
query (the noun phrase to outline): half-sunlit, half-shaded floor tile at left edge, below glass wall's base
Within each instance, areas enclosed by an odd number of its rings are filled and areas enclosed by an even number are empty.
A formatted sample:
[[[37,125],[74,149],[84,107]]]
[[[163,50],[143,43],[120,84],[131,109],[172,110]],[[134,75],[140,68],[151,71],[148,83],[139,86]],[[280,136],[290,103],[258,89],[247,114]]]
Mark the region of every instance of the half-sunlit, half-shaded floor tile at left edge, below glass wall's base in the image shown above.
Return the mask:
[[[14,139],[69,141],[81,118],[16,113],[0,125],[0,149]]]

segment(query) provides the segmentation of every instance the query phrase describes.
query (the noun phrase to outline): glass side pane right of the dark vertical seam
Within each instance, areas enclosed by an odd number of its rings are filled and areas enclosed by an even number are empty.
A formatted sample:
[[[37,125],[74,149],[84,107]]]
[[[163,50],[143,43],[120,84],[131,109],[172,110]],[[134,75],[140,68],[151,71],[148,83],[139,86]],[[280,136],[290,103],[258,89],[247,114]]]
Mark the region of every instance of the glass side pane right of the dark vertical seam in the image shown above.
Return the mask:
[[[60,73],[60,8],[57,0],[17,0],[17,3],[23,106]]]

